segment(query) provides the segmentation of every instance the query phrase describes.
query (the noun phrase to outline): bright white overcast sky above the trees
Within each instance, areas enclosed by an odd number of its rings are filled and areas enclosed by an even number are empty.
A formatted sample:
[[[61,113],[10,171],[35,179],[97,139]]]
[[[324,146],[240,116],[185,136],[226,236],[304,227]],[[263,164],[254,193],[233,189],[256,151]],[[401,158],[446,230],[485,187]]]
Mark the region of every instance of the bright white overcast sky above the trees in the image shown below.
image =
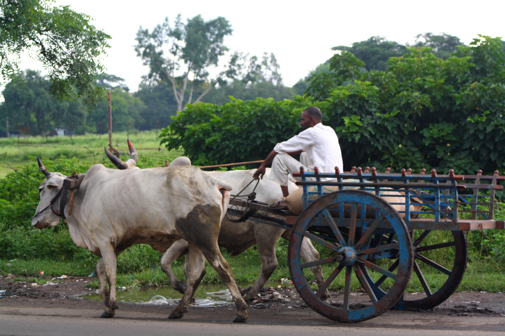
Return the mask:
[[[417,34],[425,32],[456,35],[464,43],[476,34],[505,36],[504,1],[57,0],[57,4],[91,16],[96,28],[111,35],[106,72],[124,78],[131,91],[148,72],[133,50],[138,28],[151,30],[165,17],[173,20],[179,13],[184,20],[198,14],[205,20],[225,17],[233,28],[226,46],[251,55],[273,52],[287,86],[331,57],[331,47],[370,36],[399,43],[413,43]],[[21,66],[43,72],[27,57]]]

